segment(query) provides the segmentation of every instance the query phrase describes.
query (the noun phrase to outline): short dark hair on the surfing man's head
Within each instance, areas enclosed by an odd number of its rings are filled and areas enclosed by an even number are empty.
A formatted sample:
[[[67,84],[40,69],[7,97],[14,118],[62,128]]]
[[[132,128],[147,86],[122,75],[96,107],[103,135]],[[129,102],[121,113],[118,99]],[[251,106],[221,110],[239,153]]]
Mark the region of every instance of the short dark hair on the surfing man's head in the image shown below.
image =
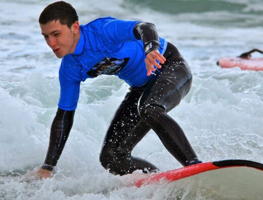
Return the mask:
[[[62,25],[68,28],[78,21],[76,10],[66,2],[55,2],[47,6],[39,16],[39,24],[47,24],[59,20]]]

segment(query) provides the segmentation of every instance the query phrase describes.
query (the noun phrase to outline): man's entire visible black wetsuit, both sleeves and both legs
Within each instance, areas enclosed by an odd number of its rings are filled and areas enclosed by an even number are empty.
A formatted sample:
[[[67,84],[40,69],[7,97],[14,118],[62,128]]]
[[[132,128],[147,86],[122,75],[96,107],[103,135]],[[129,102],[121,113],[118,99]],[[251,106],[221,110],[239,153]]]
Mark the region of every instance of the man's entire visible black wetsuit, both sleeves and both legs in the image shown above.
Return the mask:
[[[158,50],[155,26],[138,23],[134,35],[142,39],[146,54]],[[100,162],[114,174],[132,173],[137,169],[156,170],[153,164],[131,156],[131,151],[150,129],[164,147],[183,166],[200,163],[182,128],[167,112],[176,107],[189,92],[192,74],[178,49],[168,43],[162,68],[141,87],[131,87],[117,109],[102,146]],[[74,110],[58,108],[51,127],[50,144],[42,169],[53,170],[62,154],[73,124]]]

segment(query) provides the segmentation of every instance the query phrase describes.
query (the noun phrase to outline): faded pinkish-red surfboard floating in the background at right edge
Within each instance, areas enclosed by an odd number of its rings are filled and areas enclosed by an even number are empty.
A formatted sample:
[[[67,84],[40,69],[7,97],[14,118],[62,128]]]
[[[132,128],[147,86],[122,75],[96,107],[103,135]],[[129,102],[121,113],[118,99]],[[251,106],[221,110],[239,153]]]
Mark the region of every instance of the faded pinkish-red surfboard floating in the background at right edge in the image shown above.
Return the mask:
[[[240,56],[222,57],[217,61],[217,64],[222,68],[239,67],[241,70],[263,71],[263,58],[252,58],[251,53],[253,52],[263,53],[259,49],[252,49]]]

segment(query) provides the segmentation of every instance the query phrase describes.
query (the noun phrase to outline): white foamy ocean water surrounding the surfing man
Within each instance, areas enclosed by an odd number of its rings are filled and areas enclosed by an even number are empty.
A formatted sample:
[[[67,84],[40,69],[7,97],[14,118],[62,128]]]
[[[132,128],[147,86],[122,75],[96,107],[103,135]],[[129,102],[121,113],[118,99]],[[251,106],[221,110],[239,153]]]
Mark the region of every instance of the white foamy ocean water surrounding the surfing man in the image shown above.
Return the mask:
[[[52,2],[0,0],[0,199],[249,199],[238,197],[239,192],[226,197],[194,179],[128,187],[135,175],[120,177],[106,171],[99,163],[101,145],[128,89],[113,76],[81,84],[74,124],[56,175],[31,182],[17,176],[45,160],[57,110],[61,60],[45,43],[38,24],[39,14]],[[199,158],[263,163],[263,72],[216,65],[222,56],[262,49],[261,0],[69,3],[81,24],[102,16],[154,23],[159,35],[179,48],[192,69],[192,88],[170,115],[182,126]],[[153,131],[133,155],[161,171],[182,167]]]

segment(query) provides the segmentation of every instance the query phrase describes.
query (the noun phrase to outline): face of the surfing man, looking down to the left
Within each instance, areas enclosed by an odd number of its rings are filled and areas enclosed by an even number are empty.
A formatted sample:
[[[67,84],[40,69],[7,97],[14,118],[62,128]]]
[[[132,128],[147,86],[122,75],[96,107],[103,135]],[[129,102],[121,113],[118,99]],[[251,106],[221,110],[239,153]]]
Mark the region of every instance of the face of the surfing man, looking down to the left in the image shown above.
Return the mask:
[[[75,22],[71,28],[53,20],[47,24],[40,24],[42,35],[57,57],[62,58],[73,53],[79,39],[79,24]]]

